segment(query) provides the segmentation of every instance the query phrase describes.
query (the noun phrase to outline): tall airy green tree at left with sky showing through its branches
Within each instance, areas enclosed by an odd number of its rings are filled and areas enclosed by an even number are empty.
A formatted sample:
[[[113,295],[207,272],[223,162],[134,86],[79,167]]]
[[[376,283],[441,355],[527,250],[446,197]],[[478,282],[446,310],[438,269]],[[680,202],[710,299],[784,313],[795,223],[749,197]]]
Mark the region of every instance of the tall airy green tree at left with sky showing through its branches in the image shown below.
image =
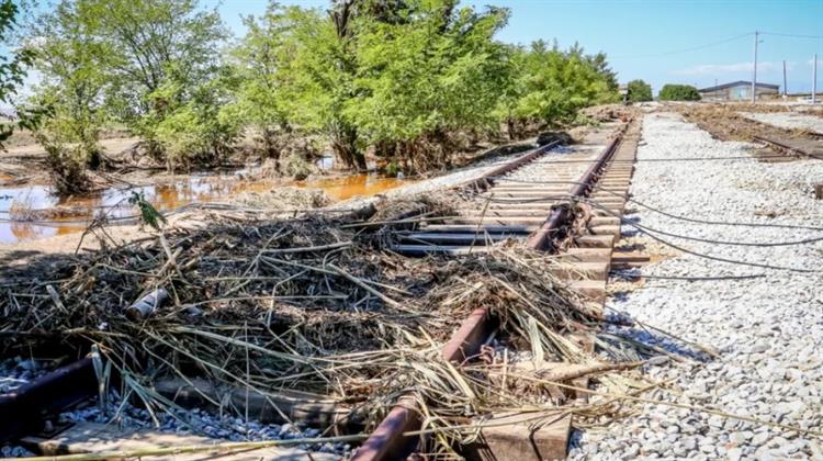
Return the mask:
[[[168,143],[158,139],[161,124],[180,108],[192,110],[189,104],[196,103],[198,93],[222,69],[219,47],[228,33],[219,15],[201,9],[196,0],[78,3],[84,20],[94,24],[95,36],[116,57],[104,69],[111,78],[109,110],[144,137],[150,154],[162,158]],[[177,155],[167,161],[181,159]]]

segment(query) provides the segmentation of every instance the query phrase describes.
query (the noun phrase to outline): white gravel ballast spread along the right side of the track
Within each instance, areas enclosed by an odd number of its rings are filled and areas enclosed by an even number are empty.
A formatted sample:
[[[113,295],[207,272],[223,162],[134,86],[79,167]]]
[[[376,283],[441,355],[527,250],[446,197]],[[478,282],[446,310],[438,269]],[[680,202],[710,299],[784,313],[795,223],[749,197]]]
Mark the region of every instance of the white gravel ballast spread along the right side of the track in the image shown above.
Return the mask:
[[[731,158],[745,157],[747,148],[713,139],[679,115],[647,114],[633,199],[690,218],[823,229],[823,201],[813,199],[814,182],[823,180],[823,161],[765,164]],[[696,157],[714,160],[686,160]],[[667,217],[636,203],[627,206],[638,210],[627,218],[691,238],[769,245],[823,238],[823,231],[706,225]],[[633,228],[624,225],[623,231]],[[719,357],[701,358],[663,336],[623,329],[689,357],[687,362],[652,367],[651,380],[673,381],[667,390],[643,397],[822,432],[823,243],[733,246],[658,237],[714,258],[818,272],[723,262],[688,252],[644,267],[642,273],[650,276],[645,285],[611,297],[607,307],[713,347]],[[740,276],[758,277],[670,279]],[[635,416],[583,432],[570,458],[823,459],[823,438],[813,434],[657,403],[638,409]]]

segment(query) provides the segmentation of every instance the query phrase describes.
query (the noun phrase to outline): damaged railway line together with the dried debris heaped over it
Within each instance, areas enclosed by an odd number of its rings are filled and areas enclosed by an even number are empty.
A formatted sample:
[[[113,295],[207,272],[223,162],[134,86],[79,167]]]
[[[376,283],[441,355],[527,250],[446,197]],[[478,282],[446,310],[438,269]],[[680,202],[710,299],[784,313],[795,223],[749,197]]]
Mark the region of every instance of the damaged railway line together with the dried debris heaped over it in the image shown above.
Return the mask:
[[[72,429],[60,413],[113,391],[121,409],[210,407],[315,429],[192,453],[294,446],[277,454],[307,456],[330,441],[354,446],[327,451],[357,460],[563,458],[588,376],[643,364],[600,362],[593,339],[610,270],[647,259],[615,249],[639,137],[636,121],[606,123],[584,144],[550,143],[365,221],[232,222],[4,279],[2,333],[24,338],[5,353],[69,345],[80,359],[0,394],[0,414],[19,415],[0,421],[0,440],[44,456],[149,457],[207,440],[135,450],[109,428],[94,446],[82,431],[104,429],[88,424],[61,436]],[[123,314],[147,294],[168,300]],[[533,382],[516,384],[515,371]],[[500,395],[508,386],[519,400]],[[518,403],[527,417],[511,411]]]

